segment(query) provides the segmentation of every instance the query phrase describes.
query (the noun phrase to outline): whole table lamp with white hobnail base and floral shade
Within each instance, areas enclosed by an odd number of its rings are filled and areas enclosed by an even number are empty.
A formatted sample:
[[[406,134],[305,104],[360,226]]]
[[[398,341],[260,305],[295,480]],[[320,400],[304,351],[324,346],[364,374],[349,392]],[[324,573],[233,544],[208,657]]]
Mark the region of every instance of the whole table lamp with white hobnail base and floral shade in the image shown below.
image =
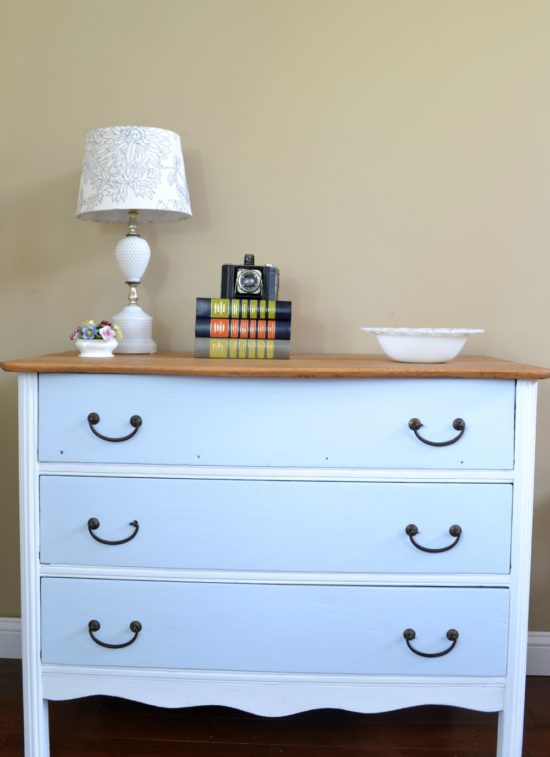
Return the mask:
[[[128,304],[113,316],[124,335],[117,352],[153,353],[153,319],[138,305],[137,287],[151,249],[138,222],[175,221],[191,216],[179,135],[148,126],[111,126],[90,131],[77,218],[128,223],[116,259],[128,284]]]

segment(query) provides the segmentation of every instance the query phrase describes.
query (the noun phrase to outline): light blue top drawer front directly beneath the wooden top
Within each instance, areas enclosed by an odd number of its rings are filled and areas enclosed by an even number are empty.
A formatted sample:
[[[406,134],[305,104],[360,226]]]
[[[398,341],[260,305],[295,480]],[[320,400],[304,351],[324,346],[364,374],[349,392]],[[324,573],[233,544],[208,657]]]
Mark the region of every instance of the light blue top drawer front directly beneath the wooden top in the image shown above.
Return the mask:
[[[39,459],[507,469],[514,464],[514,395],[515,382],[498,379],[42,374]],[[130,424],[136,415],[139,427]],[[416,433],[413,418],[423,424]],[[463,432],[455,419],[464,420]],[[419,437],[460,438],[433,446]]]

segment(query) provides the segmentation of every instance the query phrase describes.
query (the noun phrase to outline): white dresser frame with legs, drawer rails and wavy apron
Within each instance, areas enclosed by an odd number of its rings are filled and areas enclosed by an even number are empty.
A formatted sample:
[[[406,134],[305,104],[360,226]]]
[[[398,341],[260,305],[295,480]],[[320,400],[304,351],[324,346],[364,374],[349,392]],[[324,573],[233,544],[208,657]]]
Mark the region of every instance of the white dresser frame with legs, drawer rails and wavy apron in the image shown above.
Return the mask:
[[[335,379],[338,380],[338,379]],[[368,379],[366,379],[368,380]],[[537,382],[516,382],[515,464],[510,471],[258,469],[39,463],[38,374],[19,376],[20,527],[25,755],[48,757],[48,700],[94,694],[125,697],[163,707],[227,705],[260,715],[281,716],[334,707],[373,713],[422,704],[443,704],[499,713],[498,757],[520,757],[527,656],[527,622]],[[39,476],[109,475],[148,478],[240,478],[330,481],[439,481],[512,483],[512,570],[510,575],[427,576],[403,574],[285,573],[285,583],[501,586],[510,588],[507,674],[503,678],[360,676],[174,671],[42,665],[40,579],[42,576],[126,580],[278,583],[276,573],[183,571],[40,565]]]

